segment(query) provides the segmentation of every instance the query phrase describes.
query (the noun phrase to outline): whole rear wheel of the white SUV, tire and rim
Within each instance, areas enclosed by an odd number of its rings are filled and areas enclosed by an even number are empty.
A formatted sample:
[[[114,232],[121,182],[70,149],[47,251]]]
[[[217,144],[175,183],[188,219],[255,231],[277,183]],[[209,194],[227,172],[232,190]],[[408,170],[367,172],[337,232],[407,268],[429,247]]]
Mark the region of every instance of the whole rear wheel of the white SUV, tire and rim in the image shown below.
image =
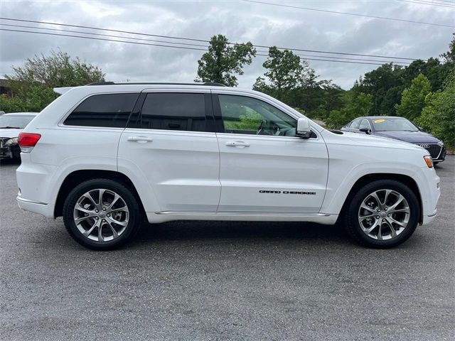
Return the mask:
[[[129,188],[109,179],[87,180],[65,200],[63,221],[76,242],[96,250],[115,249],[137,232],[141,211]]]

